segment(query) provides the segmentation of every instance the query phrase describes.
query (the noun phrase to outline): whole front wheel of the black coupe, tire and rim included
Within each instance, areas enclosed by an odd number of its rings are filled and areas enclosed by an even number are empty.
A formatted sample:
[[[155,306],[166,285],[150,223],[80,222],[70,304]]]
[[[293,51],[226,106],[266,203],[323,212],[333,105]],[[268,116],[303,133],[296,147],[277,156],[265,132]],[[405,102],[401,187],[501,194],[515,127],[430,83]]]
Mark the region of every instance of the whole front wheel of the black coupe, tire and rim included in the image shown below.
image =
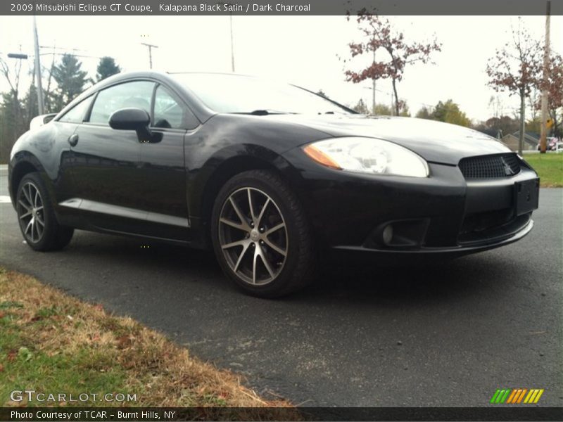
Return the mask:
[[[254,214],[250,205],[245,208],[245,196],[253,204]],[[246,229],[242,228],[243,221],[232,200],[246,219]],[[258,222],[260,227],[255,227],[253,222]],[[284,227],[276,229],[281,224]],[[254,230],[248,231],[251,228]],[[314,279],[317,260],[305,211],[291,188],[272,172],[243,172],[224,184],[213,206],[211,238],[224,273],[250,295],[277,298],[303,288]],[[239,242],[243,244],[225,248]],[[253,267],[248,269],[249,265]]]

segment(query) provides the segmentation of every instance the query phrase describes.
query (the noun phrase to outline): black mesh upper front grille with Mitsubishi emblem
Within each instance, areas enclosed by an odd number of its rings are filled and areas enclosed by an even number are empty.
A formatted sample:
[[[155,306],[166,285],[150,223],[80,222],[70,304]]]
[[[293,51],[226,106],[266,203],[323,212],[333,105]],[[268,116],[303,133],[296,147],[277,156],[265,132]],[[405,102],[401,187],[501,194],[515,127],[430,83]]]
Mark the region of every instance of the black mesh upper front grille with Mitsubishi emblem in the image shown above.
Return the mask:
[[[460,170],[465,179],[496,179],[520,172],[520,160],[514,153],[463,158]]]

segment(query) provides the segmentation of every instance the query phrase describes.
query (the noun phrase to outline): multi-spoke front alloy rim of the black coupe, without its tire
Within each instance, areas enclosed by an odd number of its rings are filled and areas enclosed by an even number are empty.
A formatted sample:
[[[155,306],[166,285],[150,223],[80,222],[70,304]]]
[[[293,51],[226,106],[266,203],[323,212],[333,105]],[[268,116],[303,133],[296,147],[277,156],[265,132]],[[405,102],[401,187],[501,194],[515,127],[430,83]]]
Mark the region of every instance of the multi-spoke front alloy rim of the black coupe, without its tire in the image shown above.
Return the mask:
[[[257,188],[239,188],[224,201],[219,242],[234,274],[255,286],[272,282],[286,262],[286,222],[274,200]]]

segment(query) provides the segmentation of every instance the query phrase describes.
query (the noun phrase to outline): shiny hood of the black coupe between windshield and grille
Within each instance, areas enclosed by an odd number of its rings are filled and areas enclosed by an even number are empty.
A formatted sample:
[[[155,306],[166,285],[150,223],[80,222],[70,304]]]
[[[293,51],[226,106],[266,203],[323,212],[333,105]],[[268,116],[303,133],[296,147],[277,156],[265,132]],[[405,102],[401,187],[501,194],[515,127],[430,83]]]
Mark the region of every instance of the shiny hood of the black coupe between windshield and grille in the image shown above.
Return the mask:
[[[365,115],[269,115],[330,136],[368,136],[398,143],[426,161],[457,165],[464,157],[510,153],[503,143],[467,127],[412,117]]]

